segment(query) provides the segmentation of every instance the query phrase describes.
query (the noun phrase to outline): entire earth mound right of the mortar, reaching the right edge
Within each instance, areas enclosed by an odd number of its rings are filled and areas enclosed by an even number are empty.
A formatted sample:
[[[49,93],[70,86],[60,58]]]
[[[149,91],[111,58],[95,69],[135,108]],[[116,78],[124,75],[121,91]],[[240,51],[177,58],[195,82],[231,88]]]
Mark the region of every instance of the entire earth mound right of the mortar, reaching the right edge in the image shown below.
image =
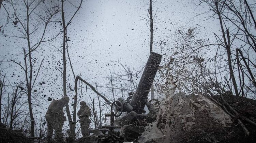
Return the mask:
[[[211,98],[220,100],[221,96]],[[255,126],[242,121],[250,131],[250,134],[246,135],[237,122],[239,117],[234,118],[227,114],[222,107],[224,104],[221,100],[215,103],[216,100],[211,100],[211,98],[193,94],[186,96],[184,93],[169,96],[160,106],[156,121],[145,128],[146,131],[139,138],[139,142],[256,142]],[[237,109],[239,115],[254,119],[253,117],[256,115],[255,100],[241,99],[241,97],[235,96],[228,98],[226,100],[229,100],[229,104],[239,108]],[[231,113],[231,111],[229,112]]]

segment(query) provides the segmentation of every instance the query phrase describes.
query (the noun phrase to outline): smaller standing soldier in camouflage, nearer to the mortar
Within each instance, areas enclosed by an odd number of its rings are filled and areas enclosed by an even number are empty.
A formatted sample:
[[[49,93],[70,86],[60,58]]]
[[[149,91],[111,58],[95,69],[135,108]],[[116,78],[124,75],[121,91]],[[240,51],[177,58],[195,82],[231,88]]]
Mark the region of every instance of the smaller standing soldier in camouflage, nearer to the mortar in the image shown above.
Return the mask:
[[[84,102],[84,101],[80,102],[80,109],[77,112],[77,116],[80,119],[82,136],[83,137],[89,136],[88,129],[89,129],[90,123],[91,123],[91,120],[89,119],[89,117],[91,117],[91,110],[86,105],[86,102]]]

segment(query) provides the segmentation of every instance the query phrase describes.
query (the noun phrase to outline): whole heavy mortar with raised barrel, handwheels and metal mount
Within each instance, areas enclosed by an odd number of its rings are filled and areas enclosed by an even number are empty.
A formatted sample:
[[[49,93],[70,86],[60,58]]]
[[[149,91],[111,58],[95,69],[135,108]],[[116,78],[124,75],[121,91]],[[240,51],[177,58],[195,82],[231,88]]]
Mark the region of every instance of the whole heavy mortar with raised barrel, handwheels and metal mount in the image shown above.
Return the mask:
[[[133,141],[144,132],[144,127],[148,123],[155,121],[156,110],[154,105],[148,101],[148,94],[161,59],[162,55],[154,52],[150,53],[136,92],[130,94],[130,97],[127,99],[120,97],[111,104],[110,114],[105,115],[110,117],[110,125],[102,126],[102,128],[113,131],[115,128],[123,127],[124,139],[126,141]],[[145,105],[149,109],[148,114],[145,114]],[[113,112],[113,106],[116,108],[115,112]],[[114,126],[114,117],[121,116],[123,112],[126,114],[118,120],[119,125]]]

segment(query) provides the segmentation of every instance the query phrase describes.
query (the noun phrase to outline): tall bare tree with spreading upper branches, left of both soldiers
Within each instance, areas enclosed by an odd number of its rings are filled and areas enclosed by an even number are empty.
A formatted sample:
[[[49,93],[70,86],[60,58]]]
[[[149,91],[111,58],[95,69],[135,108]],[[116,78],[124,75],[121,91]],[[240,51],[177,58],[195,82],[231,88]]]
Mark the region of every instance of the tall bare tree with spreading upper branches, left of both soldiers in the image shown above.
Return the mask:
[[[38,58],[34,59],[32,57],[32,52],[41,47],[43,43],[49,42],[57,37],[58,34],[50,38],[46,38],[46,35],[49,23],[54,22],[52,21],[52,18],[59,12],[59,8],[55,7],[55,5],[54,8],[51,8],[51,4],[46,5],[43,0],[27,0],[22,2],[8,0],[6,2],[11,7],[9,13],[13,13],[13,19],[15,19],[15,21],[13,21],[13,24],[14,27],[16,27],[16,32],[14,33],[17,34],[5,34],[4,36],[15,37],[21,40],[26,39],[26,47],[22,49],[22,59],[24,59],[24,61],[11,61],[16,63],[24,72],[27,88],[26,94],[28,97],[28,106],[30,113],[30,131],[31,137],[34,137],[35,120],[33,117],[31,94],[44,59],[39,62],[39,67],[36,68],[35,65],[38,63]],[[39,14],[41,13],[41,11],[44,11],[45,15]]]

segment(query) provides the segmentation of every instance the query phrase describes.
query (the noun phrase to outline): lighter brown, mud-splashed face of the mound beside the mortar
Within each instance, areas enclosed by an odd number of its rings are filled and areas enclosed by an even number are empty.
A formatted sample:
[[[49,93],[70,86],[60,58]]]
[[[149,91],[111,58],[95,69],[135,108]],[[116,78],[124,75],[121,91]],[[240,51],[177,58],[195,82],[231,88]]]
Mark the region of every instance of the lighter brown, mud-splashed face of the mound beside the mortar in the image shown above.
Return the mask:
[[[178,143],[192,137],[214,142],[219,136],[215,134],[229,123],[230,116],[202,95],[170,94],[160,106],[156,121],[145,127],[139,142]]]

